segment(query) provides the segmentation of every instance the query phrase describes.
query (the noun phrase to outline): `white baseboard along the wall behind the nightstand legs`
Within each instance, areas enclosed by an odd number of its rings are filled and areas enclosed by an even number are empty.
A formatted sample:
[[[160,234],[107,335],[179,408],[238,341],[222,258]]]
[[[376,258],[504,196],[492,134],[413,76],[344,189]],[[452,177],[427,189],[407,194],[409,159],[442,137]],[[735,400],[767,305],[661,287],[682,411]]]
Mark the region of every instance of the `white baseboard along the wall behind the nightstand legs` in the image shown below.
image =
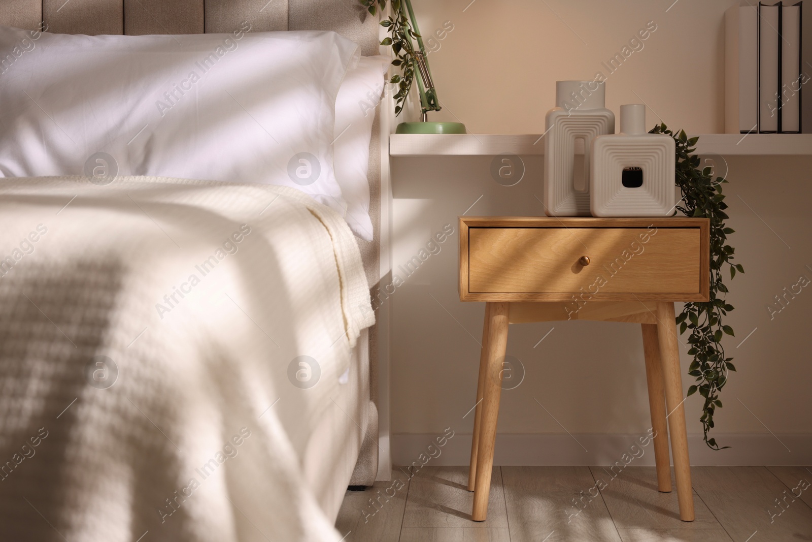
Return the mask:
[[[391,436],[394,465],[411,465],[432,457],[429,465],[468,465],[471,434],[456,433],[442,448],[430,444],[439,435],[408,434]],[[635,456],[631,465],[654,466],[652,444],[641,447],[639,434],[499,434],[496,436],[495,465],[526,466],[611,466],[624,453]],[[702,435],[689,435],[689,454],[694,466],[807,466],[812,465],[812,433],[714,433],[719,445],[729,449],[712,450]],[[577,441],[576,441],[577,440]],[[580,443],[580,444],[579,444]],[[637,448],[632,449],[633,445]],[[439,455],[438,455],[439,452]],[[421,459],[420,456],[425,454]]]

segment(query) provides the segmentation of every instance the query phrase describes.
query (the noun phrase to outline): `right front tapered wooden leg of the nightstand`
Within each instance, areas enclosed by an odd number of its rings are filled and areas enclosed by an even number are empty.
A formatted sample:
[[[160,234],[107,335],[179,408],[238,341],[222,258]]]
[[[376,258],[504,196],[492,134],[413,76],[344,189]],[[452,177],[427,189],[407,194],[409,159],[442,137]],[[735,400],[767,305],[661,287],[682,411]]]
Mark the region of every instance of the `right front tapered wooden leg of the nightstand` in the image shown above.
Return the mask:
[[[676,340],[674,304],[657,304],[657,336],[660,361],[663,365],[663,383],[668,410],[668,429],[671,433],[671,451],[674,454],[676,494],[680,502],[680,519],[693,521],[693,493],[691,492],[691,463],[688,457],[688,434],[685,431],[685,397],[682,395],[680,349]]]

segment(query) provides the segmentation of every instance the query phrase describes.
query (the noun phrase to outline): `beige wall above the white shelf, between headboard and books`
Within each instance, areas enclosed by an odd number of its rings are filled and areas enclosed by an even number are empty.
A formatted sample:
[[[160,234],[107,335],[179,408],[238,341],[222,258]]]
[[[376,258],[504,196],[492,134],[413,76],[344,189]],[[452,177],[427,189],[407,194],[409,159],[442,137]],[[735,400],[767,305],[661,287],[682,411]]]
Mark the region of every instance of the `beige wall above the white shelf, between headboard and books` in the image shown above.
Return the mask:
[[[646,102],[649,124],[662,115],[693,133],[724,131],[723,13],[733,2],[679,0],[666,13],[673,0],[476,0],[463,13],[469,1],[412,2],[425,37],[454,25],[429,54],[445,106],[432,119],[459,118],[480,133],[543,132],[555,81],[603,72],[613,111]],[[657,29],[641,50],[614,73],[603,67],[650,21]]]

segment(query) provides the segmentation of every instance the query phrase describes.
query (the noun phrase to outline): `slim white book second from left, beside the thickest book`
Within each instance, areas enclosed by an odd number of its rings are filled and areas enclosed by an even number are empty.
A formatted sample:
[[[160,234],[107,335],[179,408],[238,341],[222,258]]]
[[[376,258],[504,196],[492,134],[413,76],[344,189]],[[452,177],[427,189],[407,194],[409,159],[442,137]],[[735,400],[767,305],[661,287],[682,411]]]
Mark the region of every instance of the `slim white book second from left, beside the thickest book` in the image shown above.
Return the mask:
[[[758,4],[758,132],[778,132],[780,2]]]

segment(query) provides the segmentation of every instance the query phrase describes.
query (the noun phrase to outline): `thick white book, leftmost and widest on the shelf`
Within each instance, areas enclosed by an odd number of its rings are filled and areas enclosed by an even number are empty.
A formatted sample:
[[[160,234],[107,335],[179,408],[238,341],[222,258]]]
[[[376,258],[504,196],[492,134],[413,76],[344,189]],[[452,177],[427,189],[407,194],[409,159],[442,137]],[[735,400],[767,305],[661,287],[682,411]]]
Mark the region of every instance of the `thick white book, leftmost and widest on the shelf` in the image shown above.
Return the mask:
[[[758,7],[733,6],[725,12],[724,131],[758,128]]]

